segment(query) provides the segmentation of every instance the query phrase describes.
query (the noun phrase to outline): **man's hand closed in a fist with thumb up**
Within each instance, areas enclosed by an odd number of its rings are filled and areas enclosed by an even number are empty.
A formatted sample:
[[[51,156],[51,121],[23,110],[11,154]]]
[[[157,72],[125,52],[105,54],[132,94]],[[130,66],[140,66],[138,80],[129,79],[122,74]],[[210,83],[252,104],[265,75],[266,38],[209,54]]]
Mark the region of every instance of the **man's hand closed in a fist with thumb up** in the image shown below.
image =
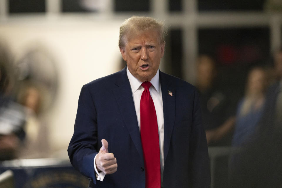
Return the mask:
[[[105,174],[113,174],[117,171],[117,159],[113,153],[108,151],[108,142],[102,139],[102,147],[96,157],[97,170],[103,171]]]

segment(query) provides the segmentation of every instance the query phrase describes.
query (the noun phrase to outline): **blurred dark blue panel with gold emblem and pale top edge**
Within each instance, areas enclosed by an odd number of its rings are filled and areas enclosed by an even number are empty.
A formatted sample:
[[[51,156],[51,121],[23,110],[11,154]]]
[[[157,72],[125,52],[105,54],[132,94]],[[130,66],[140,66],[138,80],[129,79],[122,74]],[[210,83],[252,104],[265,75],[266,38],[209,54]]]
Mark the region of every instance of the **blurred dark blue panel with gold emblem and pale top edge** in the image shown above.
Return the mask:
[[[37,164],[38,160],[46,165],[31,165]],[[88,186],[87,177],[75,170],[70,162],[61,159],[53,161],[52,159],[28,159],[27,163],[21,159],[4,161],[0,163],[0,174],[11,170],[14,188],[84,188]]]

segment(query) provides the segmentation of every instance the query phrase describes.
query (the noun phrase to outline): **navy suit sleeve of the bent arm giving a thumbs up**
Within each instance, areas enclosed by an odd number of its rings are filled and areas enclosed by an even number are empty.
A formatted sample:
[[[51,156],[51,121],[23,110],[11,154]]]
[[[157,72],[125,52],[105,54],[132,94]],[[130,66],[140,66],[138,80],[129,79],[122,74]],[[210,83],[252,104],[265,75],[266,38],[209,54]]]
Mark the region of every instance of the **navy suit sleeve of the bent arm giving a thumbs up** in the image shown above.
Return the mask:
[[[75,169],[96,183],[94,157],[97,155],[97,113],[87,85],[80,91],[73,137],[68,147]]]

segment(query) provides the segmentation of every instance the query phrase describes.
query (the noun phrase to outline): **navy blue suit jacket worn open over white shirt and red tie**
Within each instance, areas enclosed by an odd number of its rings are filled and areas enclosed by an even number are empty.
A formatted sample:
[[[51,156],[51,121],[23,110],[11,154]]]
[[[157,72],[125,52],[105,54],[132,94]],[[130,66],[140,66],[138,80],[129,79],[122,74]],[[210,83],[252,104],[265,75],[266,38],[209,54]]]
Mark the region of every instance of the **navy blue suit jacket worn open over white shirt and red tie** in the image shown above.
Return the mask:
[[[161,71],[160,83],[164,109],[163,186],[209,187],[207,141],[197,91]],[[107,174],[101,182],[95,179],[93,160],[103,138],[117,159],[117,172]],[[90,179],[89,187],[145,188],[140,131],[126,68],[83,85],[68,155],[75,169]]]

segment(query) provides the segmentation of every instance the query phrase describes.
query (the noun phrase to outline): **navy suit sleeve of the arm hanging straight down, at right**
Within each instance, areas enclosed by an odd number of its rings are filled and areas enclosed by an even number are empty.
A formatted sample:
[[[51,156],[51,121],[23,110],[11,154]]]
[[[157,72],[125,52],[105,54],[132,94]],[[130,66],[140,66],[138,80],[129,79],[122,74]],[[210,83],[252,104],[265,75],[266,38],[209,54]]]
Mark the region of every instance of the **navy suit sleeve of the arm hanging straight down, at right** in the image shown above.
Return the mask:
[[[207,139],[202,126],[199,95],[196,90],[194,93],[193,121],[189,145],[189,184],[190,187],[210,187]]]

